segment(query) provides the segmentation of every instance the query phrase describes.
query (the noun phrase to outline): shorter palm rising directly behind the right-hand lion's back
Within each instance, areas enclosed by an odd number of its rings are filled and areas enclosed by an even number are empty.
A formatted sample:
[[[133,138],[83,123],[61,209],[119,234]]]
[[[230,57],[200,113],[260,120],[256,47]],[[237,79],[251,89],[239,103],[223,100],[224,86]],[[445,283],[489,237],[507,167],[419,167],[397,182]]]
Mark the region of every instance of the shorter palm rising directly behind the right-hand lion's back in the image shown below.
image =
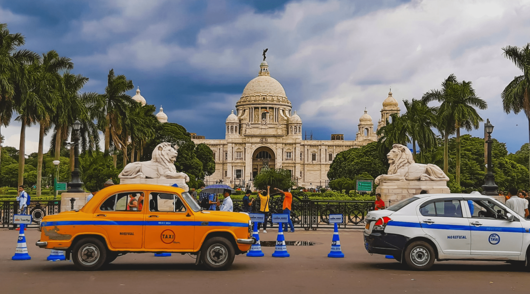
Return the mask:
[[[401,120],[407,130],[407,135],[412,141],[412,158],[416,161],[416,143],[420,146],[420,150],[427,150],[436,145],[436,136],[431,130],[434,125],[435,107],[429,107],[425,102],[412,98],[403,100],[407,112],[402,115]]]

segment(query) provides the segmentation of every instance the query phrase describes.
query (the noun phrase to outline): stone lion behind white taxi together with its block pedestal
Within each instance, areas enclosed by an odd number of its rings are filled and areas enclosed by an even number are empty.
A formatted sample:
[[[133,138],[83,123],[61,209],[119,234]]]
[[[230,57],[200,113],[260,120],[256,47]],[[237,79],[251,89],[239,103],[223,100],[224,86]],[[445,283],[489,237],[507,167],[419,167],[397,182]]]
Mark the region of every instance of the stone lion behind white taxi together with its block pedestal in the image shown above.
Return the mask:
[[[392,145],[392,150],[386,157],[390,167],[387,174],[375,179],[378,185],[375,191],[381,193],[381,199],[387,206],[418,195],[421,190],[426,190],[429,194],[451,193],[447,187],[449,178],[444,171],[435,164],[414,162],[407,146]]]

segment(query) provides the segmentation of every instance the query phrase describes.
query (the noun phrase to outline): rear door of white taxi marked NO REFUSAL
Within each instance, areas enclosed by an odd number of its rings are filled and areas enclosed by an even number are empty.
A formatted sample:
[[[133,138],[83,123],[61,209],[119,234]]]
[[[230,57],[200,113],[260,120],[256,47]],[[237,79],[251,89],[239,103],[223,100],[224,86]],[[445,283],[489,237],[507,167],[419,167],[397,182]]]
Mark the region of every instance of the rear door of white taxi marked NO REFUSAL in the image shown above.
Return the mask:
[[[471,231],[462,215],[461,200],[441,198],[420,205],[421,228],[436,240],[444,254],[470,254]]]

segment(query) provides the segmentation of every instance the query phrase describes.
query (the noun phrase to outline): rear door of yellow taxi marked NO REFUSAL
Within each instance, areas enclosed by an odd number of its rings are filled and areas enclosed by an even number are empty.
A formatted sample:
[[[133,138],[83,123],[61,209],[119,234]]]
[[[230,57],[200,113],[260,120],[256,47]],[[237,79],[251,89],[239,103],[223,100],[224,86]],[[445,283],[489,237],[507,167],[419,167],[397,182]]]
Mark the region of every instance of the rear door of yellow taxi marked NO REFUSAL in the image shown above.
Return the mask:
[[[111,195],[94,211],[95,225],[107,232],[110,245],[114,248],[142,248],[144,212],[142,201],[144,191],[128,191]],[[136,204],[135,204],[136,203]],[[131,205],[129,205],[131,204]]]

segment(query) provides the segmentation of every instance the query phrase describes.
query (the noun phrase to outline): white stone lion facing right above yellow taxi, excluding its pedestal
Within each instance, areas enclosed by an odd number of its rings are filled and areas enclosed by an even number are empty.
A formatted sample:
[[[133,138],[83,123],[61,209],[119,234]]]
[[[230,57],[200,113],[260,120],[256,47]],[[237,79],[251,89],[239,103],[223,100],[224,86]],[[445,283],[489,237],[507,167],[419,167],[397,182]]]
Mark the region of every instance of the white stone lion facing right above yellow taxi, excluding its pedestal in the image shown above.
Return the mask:
[[[190,177],[183,172],[176,172],[175,160],[179,153],[170,143],[158,144],[153,150],[151,160],[131,162],[120,172],[120,179],[185,179],[190,181]]]

